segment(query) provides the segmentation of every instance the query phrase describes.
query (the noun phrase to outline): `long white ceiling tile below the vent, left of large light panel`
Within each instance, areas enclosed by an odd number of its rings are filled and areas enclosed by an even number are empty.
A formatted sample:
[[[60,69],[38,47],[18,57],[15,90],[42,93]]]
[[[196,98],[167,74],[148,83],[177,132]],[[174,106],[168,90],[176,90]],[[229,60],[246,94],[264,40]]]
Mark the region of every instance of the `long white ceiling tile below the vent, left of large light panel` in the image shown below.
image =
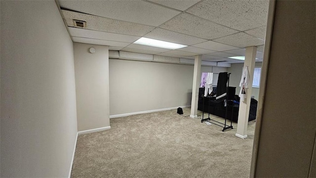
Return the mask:
[[[91,38],[91,39],[99,39],[99,40],[133,43],[136,40],[140,39],[140,37],[136,37],[136,36],[100,32],[100,31],[87,30],[87,29],[75,28],[75,27],[69,27],[69,31],[70,31],[71,36],[73,37]]]

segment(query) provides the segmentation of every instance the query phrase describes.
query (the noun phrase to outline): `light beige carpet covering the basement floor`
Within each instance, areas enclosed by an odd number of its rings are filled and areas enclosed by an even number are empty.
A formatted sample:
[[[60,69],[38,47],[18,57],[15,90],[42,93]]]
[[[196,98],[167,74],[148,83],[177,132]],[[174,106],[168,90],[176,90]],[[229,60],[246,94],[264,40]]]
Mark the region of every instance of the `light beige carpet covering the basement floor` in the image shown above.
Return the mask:
[[[202,112],[197,119],[189,115],[184,108],[183,115],[175,109],[114,118],[110,130],[79,135],[71,177],[249,177],[255,122],[248,122],[248,138],[241,139],[236,123],[222,132],[201,123]]]

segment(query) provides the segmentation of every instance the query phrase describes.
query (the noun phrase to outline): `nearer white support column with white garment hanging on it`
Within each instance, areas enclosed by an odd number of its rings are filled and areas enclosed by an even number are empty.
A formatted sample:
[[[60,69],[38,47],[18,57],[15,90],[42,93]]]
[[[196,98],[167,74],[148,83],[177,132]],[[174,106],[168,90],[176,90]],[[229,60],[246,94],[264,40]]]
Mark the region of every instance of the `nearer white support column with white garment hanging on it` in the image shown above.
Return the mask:
[[[248,126],[248,117],[250,110],[250,100],[251,100],[251,91],[252,91],[252,80],[253,80],[253,71],[255,68],[256,62],[256,53],[257,47],[250,46],[246,47],[246,55],[243,67],[248,66],[249,72],[249,88],[246,91],[247,98],[244,102],[240,101],[239,103],[239,112],[238,112],[238,123],[237,123],[237,132],[236,136],[239,138],[247,137],[247,126]]]

